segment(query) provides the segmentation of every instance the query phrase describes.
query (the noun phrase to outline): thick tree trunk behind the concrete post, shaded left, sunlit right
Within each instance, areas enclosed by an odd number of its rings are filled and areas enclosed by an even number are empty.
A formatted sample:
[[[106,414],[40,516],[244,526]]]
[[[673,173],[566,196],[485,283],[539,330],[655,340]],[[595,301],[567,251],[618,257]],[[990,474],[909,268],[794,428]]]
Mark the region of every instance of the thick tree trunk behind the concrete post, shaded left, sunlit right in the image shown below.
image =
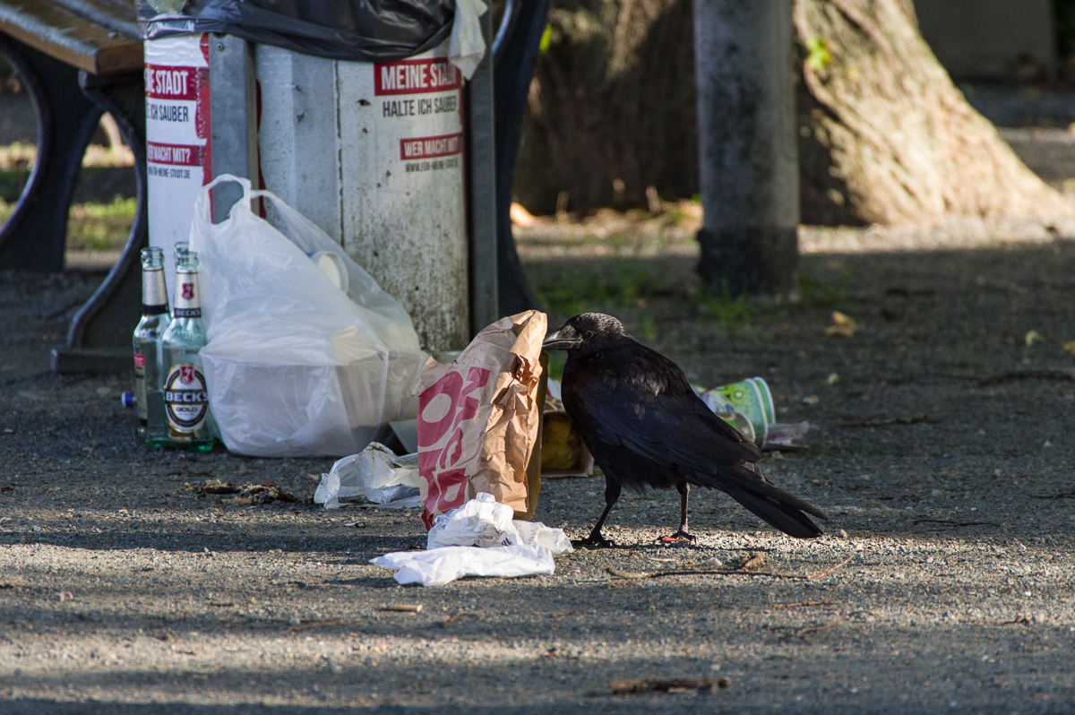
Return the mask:
[[[929,1],[929,0],[927,0]],[[559,0],[516,197],[551,213],[698,192],[689,0]],[[911,0],[797,0],[804,223],[1072,213],[952,85]]]

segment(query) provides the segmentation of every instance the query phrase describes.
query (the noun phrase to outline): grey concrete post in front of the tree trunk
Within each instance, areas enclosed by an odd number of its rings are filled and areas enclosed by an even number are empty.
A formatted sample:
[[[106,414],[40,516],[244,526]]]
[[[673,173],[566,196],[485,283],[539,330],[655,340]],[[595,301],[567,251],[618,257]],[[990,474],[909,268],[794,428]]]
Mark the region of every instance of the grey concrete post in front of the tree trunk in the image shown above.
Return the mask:
[[[698,0],[694,53],[711,289],[798,300],[792,0]]]

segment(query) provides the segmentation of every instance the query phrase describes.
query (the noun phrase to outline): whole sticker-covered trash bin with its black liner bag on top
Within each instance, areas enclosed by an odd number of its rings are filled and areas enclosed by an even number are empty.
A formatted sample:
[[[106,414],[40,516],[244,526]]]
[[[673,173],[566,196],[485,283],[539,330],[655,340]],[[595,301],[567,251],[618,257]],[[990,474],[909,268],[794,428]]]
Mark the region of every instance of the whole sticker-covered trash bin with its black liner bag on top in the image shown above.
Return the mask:
[[[463,74],[449,52],[476,66],[479,3],[377,8],[140,0],[149,243],[171,260],[174,243],[187,240],[198,192],[220,173],[212,165],[209,99],[210,45],[219,35],[211,33],[243,38],[255,43],[252,181],[340,242],[411,314],[425,349],[460,349],[471,330],[465,117]],[[277,223],[271,208],[267,218]]]

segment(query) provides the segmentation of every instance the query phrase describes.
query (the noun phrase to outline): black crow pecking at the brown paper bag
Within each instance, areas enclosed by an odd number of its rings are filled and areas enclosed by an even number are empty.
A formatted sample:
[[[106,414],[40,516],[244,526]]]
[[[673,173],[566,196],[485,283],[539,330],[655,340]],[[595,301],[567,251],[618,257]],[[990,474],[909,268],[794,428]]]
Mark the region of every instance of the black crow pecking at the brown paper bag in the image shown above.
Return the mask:
[[[605,509],[583,546],[607,546],[601,535],[622,487],[676,489],[679,529],[687,532],[691,485],[720,489],[797,539],[821,530],[803,514],[825,512],[773,486],[761,473],[761,451],[717,417],[691,389],[683,371],[635,342],[611,315],[584,313],[545,339],[547,349],[568,352],[561,397],[575,429],[605,475]]]

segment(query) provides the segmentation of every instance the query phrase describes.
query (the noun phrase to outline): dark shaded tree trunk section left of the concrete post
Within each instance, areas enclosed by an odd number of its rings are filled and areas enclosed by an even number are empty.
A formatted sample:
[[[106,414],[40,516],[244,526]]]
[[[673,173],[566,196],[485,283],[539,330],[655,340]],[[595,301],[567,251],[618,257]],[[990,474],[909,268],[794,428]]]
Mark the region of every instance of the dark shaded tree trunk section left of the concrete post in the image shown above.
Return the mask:
[[[688,0],[554,0],[519,146],[515,196],[553,213],[698,192]]]

